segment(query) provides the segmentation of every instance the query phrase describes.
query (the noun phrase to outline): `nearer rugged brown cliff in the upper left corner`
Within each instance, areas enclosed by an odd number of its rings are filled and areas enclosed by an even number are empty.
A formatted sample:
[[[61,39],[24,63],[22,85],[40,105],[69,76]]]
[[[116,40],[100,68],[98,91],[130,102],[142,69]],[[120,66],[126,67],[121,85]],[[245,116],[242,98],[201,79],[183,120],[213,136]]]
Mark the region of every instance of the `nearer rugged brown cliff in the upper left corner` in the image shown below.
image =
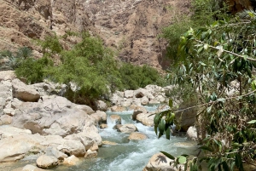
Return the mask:
[[[53,31],[57,35],[96,31],[93,27],[82,0],[0,0],[0,49],[28,46],[38,50],[32,43],[34,38],[43,38]]]

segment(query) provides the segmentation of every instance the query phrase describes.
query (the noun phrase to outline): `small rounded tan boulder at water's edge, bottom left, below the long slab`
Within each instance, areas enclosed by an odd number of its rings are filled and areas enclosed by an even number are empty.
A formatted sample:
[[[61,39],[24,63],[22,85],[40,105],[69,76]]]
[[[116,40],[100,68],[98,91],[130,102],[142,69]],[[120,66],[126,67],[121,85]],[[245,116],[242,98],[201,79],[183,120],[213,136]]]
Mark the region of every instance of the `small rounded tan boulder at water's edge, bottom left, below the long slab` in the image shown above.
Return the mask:
[[[58,165],[58,159],[56,157],[42,155],[37,159],[37,165],[39,168],[54,168]]]

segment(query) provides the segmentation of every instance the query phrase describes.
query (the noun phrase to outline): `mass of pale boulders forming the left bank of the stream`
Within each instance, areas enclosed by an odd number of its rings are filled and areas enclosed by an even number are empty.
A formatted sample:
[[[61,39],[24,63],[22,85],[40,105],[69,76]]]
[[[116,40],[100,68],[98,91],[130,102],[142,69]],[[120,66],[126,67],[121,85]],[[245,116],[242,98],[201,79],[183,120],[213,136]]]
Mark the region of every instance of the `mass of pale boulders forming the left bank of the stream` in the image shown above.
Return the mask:
[[[107,121],[106,113],[73,104],[53,89],[47,83],[26,85],[13,71],[0,72],[0,162],[35,154],[38,168],[45,169],[97,156],[102,137],[96,125]]]

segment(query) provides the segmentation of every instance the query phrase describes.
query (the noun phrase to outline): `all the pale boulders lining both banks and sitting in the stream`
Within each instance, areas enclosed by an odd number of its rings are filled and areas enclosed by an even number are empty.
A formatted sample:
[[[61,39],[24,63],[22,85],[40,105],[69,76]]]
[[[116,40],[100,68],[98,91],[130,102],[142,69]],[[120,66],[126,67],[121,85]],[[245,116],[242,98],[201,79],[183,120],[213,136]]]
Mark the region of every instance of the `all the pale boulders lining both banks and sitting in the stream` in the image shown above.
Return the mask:
[[[131,119],[146,126],[154,126],[154,113],[168,109],[166,92],[172,87],[146,88],[116,92],[111,98],[112,107],[103,101],[96,102],[99,111],[88,105],[77,105],[66,98],[66,85],[36,83],[26,85],[15,77],[14,71],[0,71],[0,162],[15,162],[29,155],[37,157],[36,166],[26,165],[15,170],[42,170],[60,164],[79,164],[79,157],[97,157],[102,144],[99,128],[108,128],[105,111],[132,111]],[[144,105],[158,105],[157,111],[148,111]],[[122,124],[119,115],[112,114],[109,121],[118,132],[130,134],[128,140],[145,140],[134,124]],[[196,129],[189,128],[188,136],[196,140]],[[144,170],[169,167],[162,154],[152,157]],[[153,163],[155,162],[155,163]],[[149,167],[153,166],[153,168]],[[162,166],[164,165],[164,166]]]

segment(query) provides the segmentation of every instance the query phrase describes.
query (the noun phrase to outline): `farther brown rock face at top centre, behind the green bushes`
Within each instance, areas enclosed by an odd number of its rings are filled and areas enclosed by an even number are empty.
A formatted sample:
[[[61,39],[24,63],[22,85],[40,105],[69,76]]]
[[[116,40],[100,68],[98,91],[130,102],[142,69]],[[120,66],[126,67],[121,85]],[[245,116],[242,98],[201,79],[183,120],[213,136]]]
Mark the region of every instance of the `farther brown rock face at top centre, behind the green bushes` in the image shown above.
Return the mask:
[[[85,6],[106,44],[119,50],[120,60],[165,68],[166,44],[157,36],[172,22],[171,8],[186,13],[189,1],[89,0]]]

